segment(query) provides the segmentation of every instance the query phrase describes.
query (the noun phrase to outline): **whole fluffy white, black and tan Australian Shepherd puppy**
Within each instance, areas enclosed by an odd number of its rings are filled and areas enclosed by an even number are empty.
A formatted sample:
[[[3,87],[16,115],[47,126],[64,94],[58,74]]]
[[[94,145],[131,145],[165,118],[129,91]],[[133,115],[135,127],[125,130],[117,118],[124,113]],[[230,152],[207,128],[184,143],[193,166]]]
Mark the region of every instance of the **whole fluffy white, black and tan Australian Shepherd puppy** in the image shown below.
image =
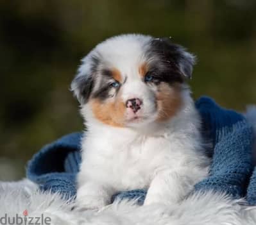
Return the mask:
[[[120,35],[83,58],[71,89],[88,129],[77,201],[101,208],[120,191],[177,203],[208,174],[200,115],[185,78],[194,56],[169,38]]]

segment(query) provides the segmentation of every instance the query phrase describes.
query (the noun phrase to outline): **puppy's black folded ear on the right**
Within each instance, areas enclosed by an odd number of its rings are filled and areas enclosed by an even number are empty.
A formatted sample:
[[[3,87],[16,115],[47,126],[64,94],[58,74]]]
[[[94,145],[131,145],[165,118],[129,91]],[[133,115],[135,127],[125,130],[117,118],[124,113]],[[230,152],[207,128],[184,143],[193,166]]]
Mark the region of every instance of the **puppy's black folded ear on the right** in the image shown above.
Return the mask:
[[[193,65],[196,63],[196,56],[189,53],[184,47],[174,44],[170,38],[155,38],[154,45],[157,46],[160,55],[168,62],[173,62],[178,67],[180,74],[191,79]]]

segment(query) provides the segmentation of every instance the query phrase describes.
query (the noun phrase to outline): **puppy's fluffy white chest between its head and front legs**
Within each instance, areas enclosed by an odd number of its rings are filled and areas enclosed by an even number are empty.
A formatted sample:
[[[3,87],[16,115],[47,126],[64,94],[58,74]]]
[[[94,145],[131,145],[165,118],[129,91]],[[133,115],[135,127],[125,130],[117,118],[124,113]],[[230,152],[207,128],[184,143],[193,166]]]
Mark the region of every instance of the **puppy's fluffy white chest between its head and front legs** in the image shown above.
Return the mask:
[[[170,130],[153,136],[112,128],[90,131],[83,140],[81,173],[84,179],[108,183],[117,190],[148,188],[159,171],[202,163],[195,151],[198,140],[193,142]]]

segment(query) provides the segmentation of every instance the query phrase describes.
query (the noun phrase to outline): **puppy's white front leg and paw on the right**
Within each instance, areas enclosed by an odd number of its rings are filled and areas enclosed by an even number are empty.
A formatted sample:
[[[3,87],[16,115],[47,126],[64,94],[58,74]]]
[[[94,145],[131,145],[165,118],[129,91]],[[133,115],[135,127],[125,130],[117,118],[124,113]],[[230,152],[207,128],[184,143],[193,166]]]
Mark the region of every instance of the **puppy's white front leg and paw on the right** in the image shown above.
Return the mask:
[[[192,176],[188,169],[158,172],[151,181],[144,204],[178,203],[192,190],[194,184],[198,181],[196,177]]]

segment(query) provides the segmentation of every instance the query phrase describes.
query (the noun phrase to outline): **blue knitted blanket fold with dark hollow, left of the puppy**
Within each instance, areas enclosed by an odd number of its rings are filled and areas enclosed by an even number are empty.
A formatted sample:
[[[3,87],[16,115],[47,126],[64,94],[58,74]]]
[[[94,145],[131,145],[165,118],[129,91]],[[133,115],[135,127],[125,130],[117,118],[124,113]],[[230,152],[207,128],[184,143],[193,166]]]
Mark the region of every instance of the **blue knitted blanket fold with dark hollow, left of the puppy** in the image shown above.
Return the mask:
[[[28,163],[27,177],[41,190],[76,195],[76,174],[81,162],[81,133],[71,133],[44,146]]]

